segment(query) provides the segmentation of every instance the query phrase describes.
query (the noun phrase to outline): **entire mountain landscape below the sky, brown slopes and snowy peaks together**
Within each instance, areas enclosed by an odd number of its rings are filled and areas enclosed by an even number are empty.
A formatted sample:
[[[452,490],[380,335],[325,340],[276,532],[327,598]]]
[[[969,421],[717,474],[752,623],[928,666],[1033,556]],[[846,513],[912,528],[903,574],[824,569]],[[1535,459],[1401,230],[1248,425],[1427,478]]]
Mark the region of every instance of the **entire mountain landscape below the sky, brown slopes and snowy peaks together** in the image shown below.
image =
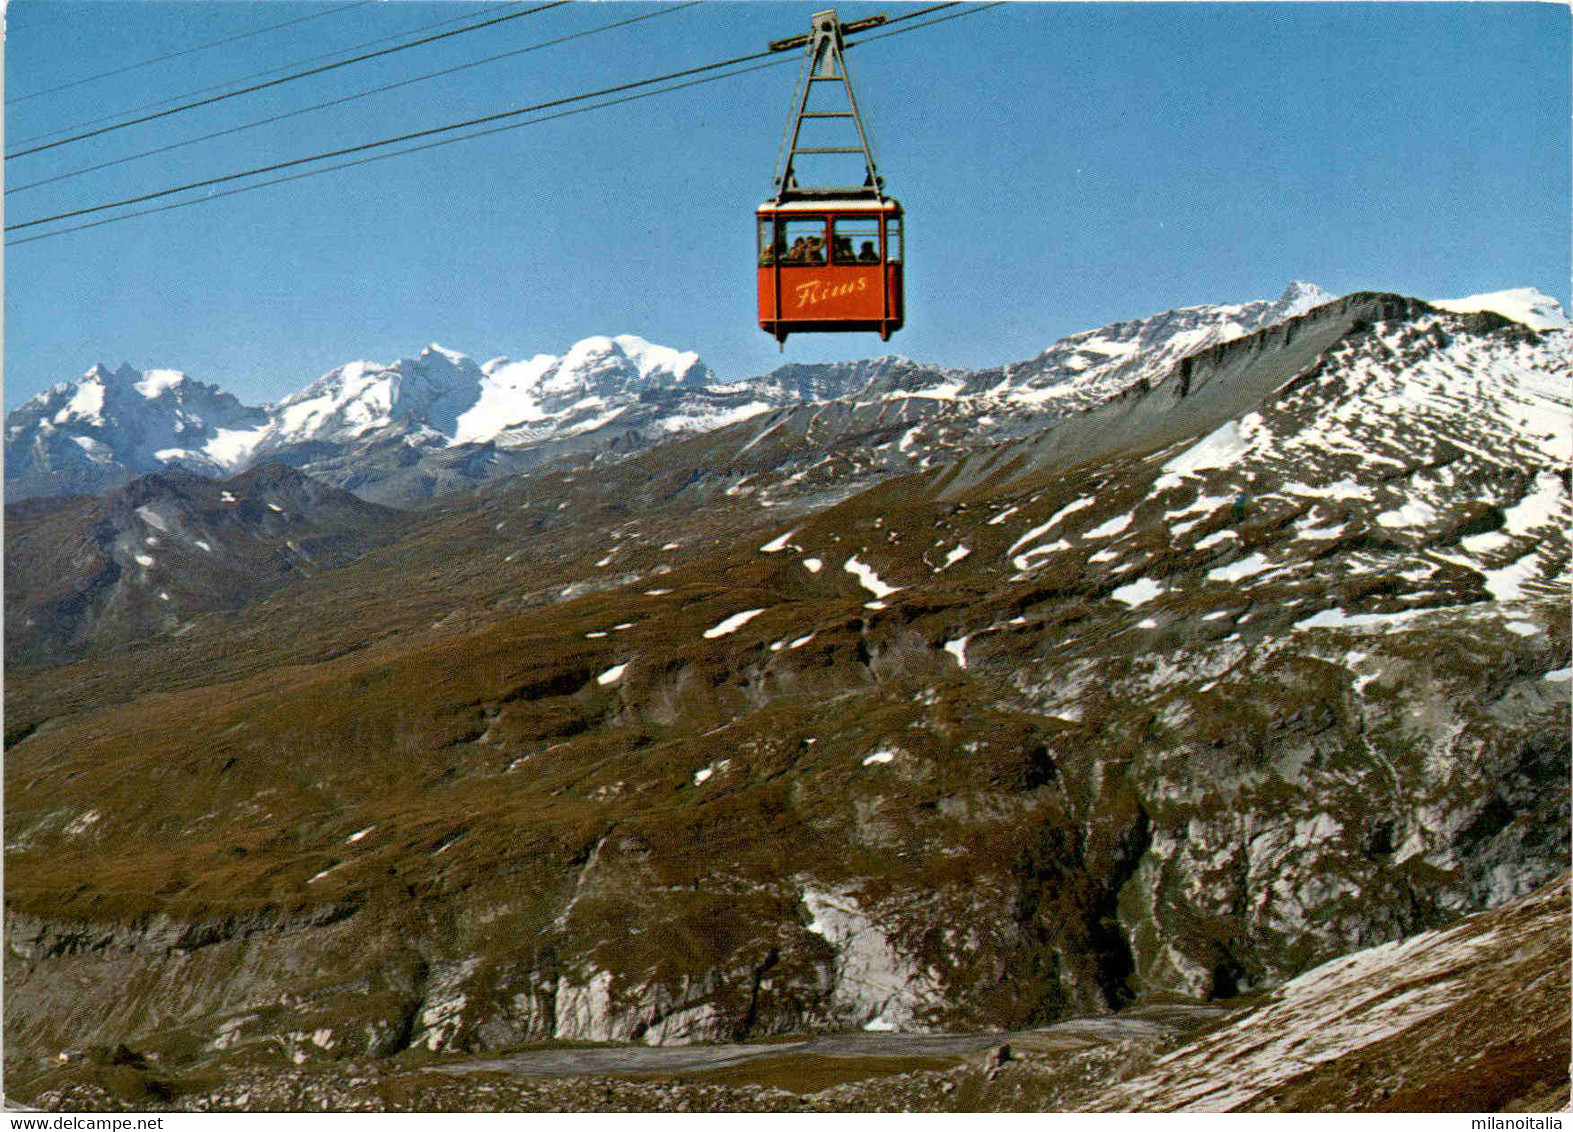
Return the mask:
[[[321,431],[245,470],[8,505],[8,1093],[1335,1107],[1317,1064],[1378,1088],[1376,1042],[1479,1025],[1449,948],[1499,920],[1565,1047],[1573,332],[1475,307],[1295,285],[738,387],[434,349],[286,399]],[[360,413],[390,371],[420,412]],[[91,385],[8,421],[8,475],[20,429],[19,476],[85,483],[36,453],[93,454]],[[1208,1091],[1326,964],[1425,946],[1452,989],[1397,1030]],[[835,1064],[518,1083],[764,1042]],[[1515,1042],[1469,1096],[1565,1104]]]

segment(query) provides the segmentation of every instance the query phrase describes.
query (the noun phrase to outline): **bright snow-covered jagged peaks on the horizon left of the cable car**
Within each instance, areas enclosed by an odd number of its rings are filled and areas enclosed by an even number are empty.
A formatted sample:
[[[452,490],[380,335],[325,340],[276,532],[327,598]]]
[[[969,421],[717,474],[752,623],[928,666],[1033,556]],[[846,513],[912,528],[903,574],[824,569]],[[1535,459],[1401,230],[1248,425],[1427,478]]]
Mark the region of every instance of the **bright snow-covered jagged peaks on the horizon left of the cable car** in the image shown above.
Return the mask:
[[[442,448],[573,437],[661,393],[675,399],[661,407],[662,434],[719,428],[772,407],[741,396],[747,387],[709,390],[713,384],[698,354],[634,335],[585,338],[560,357],[497,357],[484,366],[431,343],[390,365],[362,358],[337,366],[264,407],[242,406],[176,369],[96,365],[9,415],[6,464],[8,475],[28,464],[46,475],[87,465],[222,475],[299,445],[385,437]]]

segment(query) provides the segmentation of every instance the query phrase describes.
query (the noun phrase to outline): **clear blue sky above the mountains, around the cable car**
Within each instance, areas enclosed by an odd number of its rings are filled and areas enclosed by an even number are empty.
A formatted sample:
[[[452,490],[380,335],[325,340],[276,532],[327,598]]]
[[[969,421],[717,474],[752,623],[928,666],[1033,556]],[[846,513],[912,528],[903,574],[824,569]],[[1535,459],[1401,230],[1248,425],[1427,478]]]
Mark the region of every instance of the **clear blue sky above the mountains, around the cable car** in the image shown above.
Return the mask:
[[[522,9],[389,0],[319,14],[333,6],[14,0],[6,151]],[[805,31],[820,3],[705,3],[17,190],[665,6],[576,3],[16,157],[6,223],[752,53]],[[843,19],[914,9],[840,6]],[[192,50],[302,16],[316,17]],[[1420,297],[1535,286],[1568,302],[1565,6],[1011,3],[870,41],[851,66],[908,211],[908,325],[889,344],[820,335],[785,354],[757,329],[752,291],[752,211],[771,190],[798,53],[782,60],[8,247],[6,407],[94,362],[184,369],[263,402],[428,341],[484,360],[596,333],[695,349],[724,379],[884,352],[982,366],[1123,318],[1271,299],[1293,278]],[[61,83],[74,85],[35,96]],[[83,220],[98,215],[113,212]]]

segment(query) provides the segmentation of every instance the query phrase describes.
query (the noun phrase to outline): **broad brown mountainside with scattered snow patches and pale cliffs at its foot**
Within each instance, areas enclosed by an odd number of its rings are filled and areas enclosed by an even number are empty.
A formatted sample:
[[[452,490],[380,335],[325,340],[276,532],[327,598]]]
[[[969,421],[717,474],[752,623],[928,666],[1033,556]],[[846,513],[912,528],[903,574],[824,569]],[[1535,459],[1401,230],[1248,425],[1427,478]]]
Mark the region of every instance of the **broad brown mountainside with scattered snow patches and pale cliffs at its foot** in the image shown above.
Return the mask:
[[[9,1064],[1030,1027],[1518,898],[1567,357],[1356,296],[906,475],[911,388],[798,409],[24,673]]]

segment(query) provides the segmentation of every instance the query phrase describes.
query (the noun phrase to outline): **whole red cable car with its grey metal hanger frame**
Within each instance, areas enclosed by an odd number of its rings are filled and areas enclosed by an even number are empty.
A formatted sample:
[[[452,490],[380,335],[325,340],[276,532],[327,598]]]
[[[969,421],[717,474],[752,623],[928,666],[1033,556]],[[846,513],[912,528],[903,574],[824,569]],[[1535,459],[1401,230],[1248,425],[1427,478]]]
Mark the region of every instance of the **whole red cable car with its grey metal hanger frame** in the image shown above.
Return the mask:
[[[755,211],[760,329],[783,347],[791,333],[871,330],[889,340],[901,329],[901,204],[884,193],[842,55],[843,33],[884,22],[875,16],[843,25],[831,9],[815,13],[810,35],[771,44],[772,50],[809,44],[793,99],[786,165],[775,178],[775,197]],[[845,93],[846,108],[810,110],[820,90]],[[815,123],[813,130],[821,121],[849,121],[857,127],[857,145],[807,145],[815,138],[804,137],[804,124]],[[802,187],[796,175],[802,154],[860,154],[864,184]]]

